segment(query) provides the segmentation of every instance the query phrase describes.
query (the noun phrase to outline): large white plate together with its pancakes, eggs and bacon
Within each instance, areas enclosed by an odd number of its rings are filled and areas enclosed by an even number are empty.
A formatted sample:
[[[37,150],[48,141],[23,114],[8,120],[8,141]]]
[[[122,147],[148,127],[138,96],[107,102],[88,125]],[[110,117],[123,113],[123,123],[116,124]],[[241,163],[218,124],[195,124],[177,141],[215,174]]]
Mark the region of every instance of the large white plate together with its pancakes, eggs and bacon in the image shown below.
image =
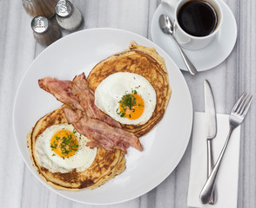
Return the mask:
[[[26,165],[44,185],[110,205],[149,192],[179,164],[192,101],[179,68],[156,44],[125,30],[86,29],[31,63],[13,125]]]

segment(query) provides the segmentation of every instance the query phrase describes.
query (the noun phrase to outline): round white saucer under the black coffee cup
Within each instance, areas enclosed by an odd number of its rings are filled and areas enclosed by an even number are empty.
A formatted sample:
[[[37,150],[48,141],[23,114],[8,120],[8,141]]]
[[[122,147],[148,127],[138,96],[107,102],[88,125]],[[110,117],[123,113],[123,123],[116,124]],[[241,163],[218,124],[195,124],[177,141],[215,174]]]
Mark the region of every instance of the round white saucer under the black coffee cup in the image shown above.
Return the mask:
[[[223,62],[232,52],[237,39],[237,23],[232,14],[232,10],[223,1],[219,1],[223,10],[223,24],[219,34],[204,49],[188,50],[184,49],[185,54],[190,58],[198,71],[204,71],[214,68]],[[160,4],[152,19],[152,41],[172,57],[172,60],[180,69],[186,70],[185,63],[179,54],[172,37],[165,35],[159,27],[158,18],[161,14],[168,15],[166,10]]]

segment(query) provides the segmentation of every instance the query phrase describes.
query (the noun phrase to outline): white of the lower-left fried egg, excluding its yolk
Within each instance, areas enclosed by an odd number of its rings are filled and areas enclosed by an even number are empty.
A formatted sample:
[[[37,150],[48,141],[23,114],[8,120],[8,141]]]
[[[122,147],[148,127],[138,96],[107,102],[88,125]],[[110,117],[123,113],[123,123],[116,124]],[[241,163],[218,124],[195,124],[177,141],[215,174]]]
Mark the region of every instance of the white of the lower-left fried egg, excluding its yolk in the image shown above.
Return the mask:
[[[69,158],[62,158],[51,150],[51,138],[60,130],[67,130],[74,133],[78,141],[77,152]],[[35,145],[35,154],[40,166],[44,166],[50,172],[71,172],[76,169],[77,172],[83,172],[91,166],[97,154],[97,148],[86,146],[89,141],[84,135],[75,133],[71,124],[58,124],[45,129],[44,133],[37,138]]]

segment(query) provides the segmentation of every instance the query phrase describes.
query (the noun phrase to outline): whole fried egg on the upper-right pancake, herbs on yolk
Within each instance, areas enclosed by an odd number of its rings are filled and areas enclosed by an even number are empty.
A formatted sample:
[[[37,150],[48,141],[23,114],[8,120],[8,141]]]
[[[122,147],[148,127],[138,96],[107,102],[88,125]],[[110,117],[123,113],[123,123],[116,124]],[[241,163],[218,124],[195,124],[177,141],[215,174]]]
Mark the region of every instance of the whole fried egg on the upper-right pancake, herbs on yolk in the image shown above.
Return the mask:
[[[154,112],[157,95],[142,75],[118,72],[106,77],[95,90],[95,105],[122,124],[145,124]]]

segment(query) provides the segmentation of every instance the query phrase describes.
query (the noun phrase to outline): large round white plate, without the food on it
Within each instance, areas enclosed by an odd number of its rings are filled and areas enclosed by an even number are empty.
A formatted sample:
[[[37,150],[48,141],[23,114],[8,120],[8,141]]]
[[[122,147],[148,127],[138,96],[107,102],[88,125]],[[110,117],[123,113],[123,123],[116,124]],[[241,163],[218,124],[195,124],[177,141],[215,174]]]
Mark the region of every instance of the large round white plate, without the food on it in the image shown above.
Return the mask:
[[[165,59],[172,97],[164,118],[140,138],[144,150],[129,148],[126,169],[116,178],[94,190],[78,192],[56,190],[39,177],[30,161],[26,144],[27,133],[38,119],[61,106],[59,101],[38,87],[37,81],[45,76],[71,80],[104,58],[124,49],[135,41],[153,47]],[[178,165],[185,153],[192,130],[192,101],[179,68],[169,55],[148,39],[119,29],[86,29],[65,36],[45,49],[31,63],[24,75],[14,104],[13,125],[17,145],[24,161],[44,185],[52,191],[72,200],[91,205],[110,205],[137,198],[161,183]]]

